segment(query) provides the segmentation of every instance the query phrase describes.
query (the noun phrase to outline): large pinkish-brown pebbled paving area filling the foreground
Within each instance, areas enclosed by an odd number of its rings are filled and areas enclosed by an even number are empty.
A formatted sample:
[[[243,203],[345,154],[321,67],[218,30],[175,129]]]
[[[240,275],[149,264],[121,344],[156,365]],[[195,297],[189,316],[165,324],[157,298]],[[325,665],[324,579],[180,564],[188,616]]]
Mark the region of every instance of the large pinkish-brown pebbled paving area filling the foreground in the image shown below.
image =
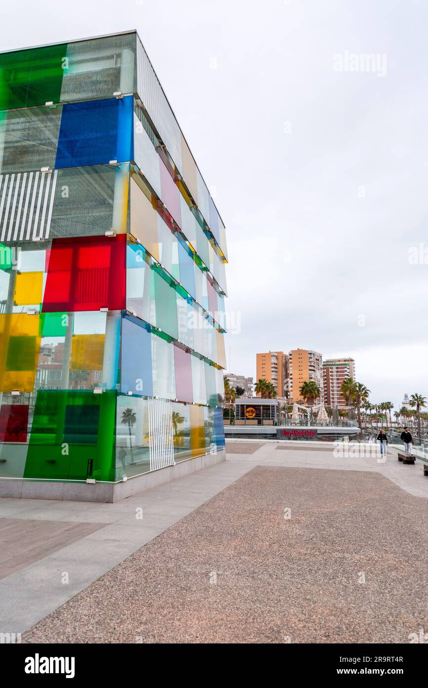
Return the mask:
[[[428,500],[378,471],[256,466],[24,643],[408,643],[428,628]]]

